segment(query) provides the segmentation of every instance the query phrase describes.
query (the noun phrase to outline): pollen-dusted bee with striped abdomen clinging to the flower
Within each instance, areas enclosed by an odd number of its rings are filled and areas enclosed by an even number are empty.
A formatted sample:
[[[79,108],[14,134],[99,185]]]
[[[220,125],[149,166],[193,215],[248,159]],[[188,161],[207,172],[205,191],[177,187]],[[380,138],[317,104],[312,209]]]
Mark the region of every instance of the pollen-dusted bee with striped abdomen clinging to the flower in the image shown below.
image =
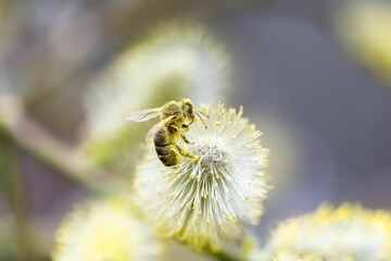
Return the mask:
[[[125,120],[144,122],[160,116],[161,121],[149,130],[147,139],[153,140],[157,158],[162,163],[166,166],[173,166],[180,162],[180,156],[192,160],[199,159],[191,151],[178,146],[176,141],[180,137],[186,144],[193,144],[185,136],[185,132],[189,130],[189,126],[195,121],[195,116],[201,120],[206,128],[200,113],[203,114],[194,109],[190,99],[182,99],[181,101],[168,101],[160,108],[131,112],[126,115]]]

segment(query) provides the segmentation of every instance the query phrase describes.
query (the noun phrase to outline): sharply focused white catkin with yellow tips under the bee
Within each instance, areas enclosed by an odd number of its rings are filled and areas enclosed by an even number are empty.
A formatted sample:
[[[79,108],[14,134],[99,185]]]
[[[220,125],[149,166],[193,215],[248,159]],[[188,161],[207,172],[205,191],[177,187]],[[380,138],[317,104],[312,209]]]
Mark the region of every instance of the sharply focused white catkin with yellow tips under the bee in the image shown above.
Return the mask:
[[[219,250],[240,239],[242,225],[255,224],[262,214],[268,151],[242,109],[214,103],[201,111],[207,128],[197,121],[186,133],[193,144],[178,141],[199,160],[181,157],[168,167],[150,149],[138,167],[135,189],[137,202],[163,235],[198,249]]]

